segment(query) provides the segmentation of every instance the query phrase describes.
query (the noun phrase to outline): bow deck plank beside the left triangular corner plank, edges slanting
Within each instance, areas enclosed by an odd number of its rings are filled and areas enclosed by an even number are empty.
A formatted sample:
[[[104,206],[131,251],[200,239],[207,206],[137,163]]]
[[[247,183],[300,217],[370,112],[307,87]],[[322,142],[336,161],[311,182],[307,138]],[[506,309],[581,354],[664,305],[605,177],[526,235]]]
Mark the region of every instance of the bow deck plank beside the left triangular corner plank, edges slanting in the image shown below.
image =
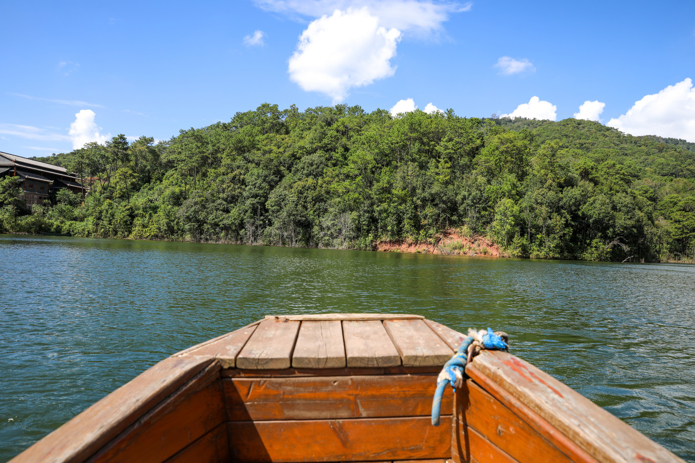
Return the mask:
[[[237,368],[290,368],[300,322],[263,320],[236,357]]]

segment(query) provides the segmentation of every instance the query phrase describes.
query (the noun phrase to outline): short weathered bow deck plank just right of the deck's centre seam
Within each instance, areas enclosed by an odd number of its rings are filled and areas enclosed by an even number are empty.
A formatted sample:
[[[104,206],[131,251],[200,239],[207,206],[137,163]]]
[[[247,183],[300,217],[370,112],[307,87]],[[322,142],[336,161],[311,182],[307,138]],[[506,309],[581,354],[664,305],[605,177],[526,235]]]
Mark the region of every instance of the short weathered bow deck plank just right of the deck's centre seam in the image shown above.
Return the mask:
[[[347,367],[398,366],[400,354],[379,320],[343,321]]]

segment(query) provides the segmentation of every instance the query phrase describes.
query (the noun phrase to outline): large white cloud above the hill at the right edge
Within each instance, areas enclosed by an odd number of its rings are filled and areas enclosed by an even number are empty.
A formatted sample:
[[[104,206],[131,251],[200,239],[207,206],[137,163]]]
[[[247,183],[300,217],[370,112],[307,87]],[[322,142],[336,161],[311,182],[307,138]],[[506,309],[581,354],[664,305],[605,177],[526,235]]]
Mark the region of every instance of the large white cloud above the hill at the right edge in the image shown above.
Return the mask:
[[[692,79],[646,95],[606,124],[632,135],[658,135],[695,142],[695,88]]]

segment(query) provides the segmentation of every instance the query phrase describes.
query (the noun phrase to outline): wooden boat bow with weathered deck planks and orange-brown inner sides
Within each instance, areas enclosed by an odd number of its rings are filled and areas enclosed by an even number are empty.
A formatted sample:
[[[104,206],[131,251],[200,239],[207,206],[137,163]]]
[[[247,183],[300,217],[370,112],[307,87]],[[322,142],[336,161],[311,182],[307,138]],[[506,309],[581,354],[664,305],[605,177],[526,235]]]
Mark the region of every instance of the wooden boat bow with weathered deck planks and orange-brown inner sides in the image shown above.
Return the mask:
[[[19,462],[682,462],[555,378],[422,316],[267,316],[164,359]]]

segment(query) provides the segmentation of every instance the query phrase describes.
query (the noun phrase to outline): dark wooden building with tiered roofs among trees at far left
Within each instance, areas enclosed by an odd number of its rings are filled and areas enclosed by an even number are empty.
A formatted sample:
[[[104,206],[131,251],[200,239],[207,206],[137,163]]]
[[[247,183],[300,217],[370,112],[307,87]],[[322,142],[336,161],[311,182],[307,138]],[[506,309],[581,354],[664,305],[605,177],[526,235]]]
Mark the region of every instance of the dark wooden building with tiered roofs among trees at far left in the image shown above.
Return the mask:
[[[84,197],[86,190],[79,177],[58,165],[42,163],[22,156],[0,152],[0,177],[19,177],[26,205],[41,204],[51,193],[68,188]]]

